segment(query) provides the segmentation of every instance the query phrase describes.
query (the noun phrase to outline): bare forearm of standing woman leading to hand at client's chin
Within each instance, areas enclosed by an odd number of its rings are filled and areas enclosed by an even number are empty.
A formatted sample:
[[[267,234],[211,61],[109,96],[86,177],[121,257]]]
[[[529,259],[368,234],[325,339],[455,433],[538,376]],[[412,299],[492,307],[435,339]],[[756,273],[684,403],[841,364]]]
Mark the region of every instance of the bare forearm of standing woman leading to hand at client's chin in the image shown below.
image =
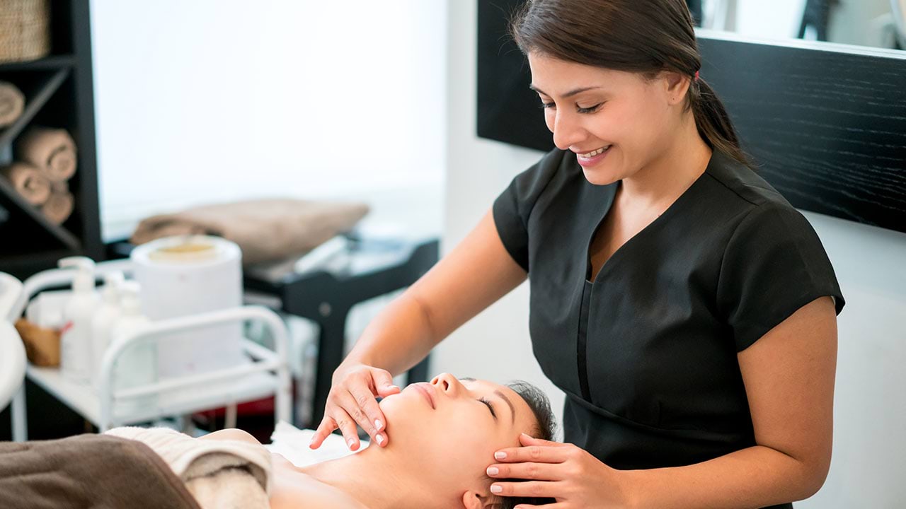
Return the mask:
[[[428,313],[410,292],[393,300],[362,332],[343,365],[362,363],[398,375],[425,358],[439,341]]]

